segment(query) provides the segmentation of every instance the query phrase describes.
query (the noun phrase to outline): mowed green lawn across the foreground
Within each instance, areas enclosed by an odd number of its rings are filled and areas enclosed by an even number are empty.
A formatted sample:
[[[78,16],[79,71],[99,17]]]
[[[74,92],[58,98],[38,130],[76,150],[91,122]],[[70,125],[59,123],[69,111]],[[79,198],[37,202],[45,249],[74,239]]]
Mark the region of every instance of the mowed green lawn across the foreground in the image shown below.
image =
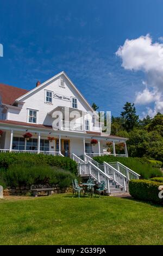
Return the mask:
[[[163,207],[68,194],[0,199],[1,245],[162,245]]]

